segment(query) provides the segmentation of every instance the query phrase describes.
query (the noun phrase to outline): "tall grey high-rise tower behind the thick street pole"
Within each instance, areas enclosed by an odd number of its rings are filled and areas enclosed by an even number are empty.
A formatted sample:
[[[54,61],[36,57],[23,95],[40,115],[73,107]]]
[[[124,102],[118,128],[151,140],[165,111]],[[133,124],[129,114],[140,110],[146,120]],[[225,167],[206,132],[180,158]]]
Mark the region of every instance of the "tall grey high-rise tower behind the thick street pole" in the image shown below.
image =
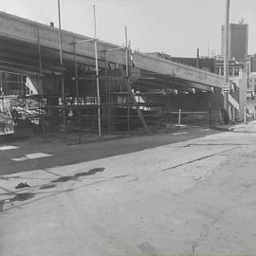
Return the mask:
[[[221,54],[225,53],[225,26],[221,27]],[[229,24],[229,60],[244,62],[248,54],[248,25]]]

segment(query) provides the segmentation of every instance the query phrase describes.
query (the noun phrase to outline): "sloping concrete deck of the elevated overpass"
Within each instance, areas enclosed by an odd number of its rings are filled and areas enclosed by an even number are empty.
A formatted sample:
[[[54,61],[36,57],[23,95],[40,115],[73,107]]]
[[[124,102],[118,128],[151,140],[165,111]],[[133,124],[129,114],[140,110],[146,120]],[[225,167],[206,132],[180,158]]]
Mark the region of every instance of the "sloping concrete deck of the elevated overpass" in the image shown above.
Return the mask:
[[[90,39],[73,32],[63,30],[64,67],[74,66],[74,45],[72,42]],[[38,45],[43,56],[43,71],[60,72],[59,29],[39,24],[24,18],[0,12],[0,68],[19,70],[23,73],[38,73]],[[119,46],[98,42],[98,59],[100,67],[105,63],[125,65],[124,50],[106,51]],[[94,42],[76,45],[78,64],[94,66]],[[210,91],[211,87],[221,88],[224,79],[205,70],[188,65],[174,63],[138,51],[133,52],[133,62],[138,73],[155,78],[152,81],[139,81],[151,86],[194,87]]]

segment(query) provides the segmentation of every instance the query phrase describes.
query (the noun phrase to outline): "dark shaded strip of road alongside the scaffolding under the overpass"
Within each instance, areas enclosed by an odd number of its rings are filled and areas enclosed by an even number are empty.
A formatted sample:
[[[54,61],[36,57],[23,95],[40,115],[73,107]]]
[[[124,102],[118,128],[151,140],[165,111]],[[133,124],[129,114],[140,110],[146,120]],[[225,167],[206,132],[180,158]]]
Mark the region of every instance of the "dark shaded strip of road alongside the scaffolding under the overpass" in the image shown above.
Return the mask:
[[[205,137],[219,133],[215,130],[204,128],[191,128],[177,130],[174,133],[165,133],[153,136],[123,137],[107,141],[68,145],[58,140],[44,141],[43,139],[12,137],[0,138],[0,175],[14,174],[31,170],[44,170],[55,166],[64,166],[73,163],[90,161],[137,152],[147,148],[153,148],[165,144]],[[16,149],[2,150],[3,146],[15,146]],[[35,157],[15,161],[13,158],[26,157],[30,154],[43,153],[47,157]],[[36,156],[36,155],[35,155]]]

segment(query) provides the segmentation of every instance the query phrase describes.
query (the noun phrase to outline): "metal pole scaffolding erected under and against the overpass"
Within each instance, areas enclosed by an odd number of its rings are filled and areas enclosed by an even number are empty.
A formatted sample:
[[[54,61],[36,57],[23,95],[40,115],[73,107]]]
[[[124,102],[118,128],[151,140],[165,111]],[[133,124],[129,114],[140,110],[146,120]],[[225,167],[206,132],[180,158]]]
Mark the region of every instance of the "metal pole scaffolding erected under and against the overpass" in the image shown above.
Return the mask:
[[[128,40],[127,27],[124,29],[124,46],[105,49],[104,68],[100,68],[95,6],[93,7],[94,38],[81,41],[74,39],[70,42],[73,46],[73,75],[69,81],[64,81],[60,1],[58,1],[58,10],[61,90],[55,95],[46,92],[44,56],[40,30],[37,27],[38,93],[27,95],[26,84],[22,82],[18,96],[9,99],[9,101],[16,101],[13,109],[18,112],[17,119],[29,120],[43,137],[63,134],[66,140],[67,135],[73,134],[78,143],[82,143],[82,137],[96,136],[96,131],[98,137],[115,133],[131,134],[135,130],[139,132],[143,130],[144,133],[155,129],[170,131],[170,129],[179,129],[182,125],[192,125],[192,123],[209,125],[212,119],[216,119],[216,115],[219,117],[218,113],[172,109],[167,106],[169,95],[165,92],[157,94],[137,91],[136,83],[134,83],[135,77],[132,73],[131,41]],[[84,71],[80,69],[78,63],[77,46],[89,42],[94,43],[95,64],[92,67],[93,70]],[[125,64],[108,63],[107,53],[110,51],[123,52]],[[72,90],[68,92],[64,82],[69,85],[73,83],[75,92]],[[161,97],[161,101],[151,101],[149,96],[154,95]]]

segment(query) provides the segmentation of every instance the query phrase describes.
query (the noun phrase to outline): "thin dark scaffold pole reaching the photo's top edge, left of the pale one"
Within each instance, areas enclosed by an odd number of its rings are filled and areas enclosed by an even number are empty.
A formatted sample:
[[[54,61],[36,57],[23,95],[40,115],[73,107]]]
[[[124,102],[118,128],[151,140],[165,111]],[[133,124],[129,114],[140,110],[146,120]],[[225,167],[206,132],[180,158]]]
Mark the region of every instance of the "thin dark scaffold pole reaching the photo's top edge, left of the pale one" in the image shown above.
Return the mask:
[[[64,63],[63,63],[63,38],[62,38],[62,21],[61,21],[61,4],[60,0],[58,0],[58,14],[59,14],[59,46],[60,46],[60,62],[62,68],[62,101],[63,101],[63,126],[64,126],[64,141],[65,141],[65,101],[64,101]]]

